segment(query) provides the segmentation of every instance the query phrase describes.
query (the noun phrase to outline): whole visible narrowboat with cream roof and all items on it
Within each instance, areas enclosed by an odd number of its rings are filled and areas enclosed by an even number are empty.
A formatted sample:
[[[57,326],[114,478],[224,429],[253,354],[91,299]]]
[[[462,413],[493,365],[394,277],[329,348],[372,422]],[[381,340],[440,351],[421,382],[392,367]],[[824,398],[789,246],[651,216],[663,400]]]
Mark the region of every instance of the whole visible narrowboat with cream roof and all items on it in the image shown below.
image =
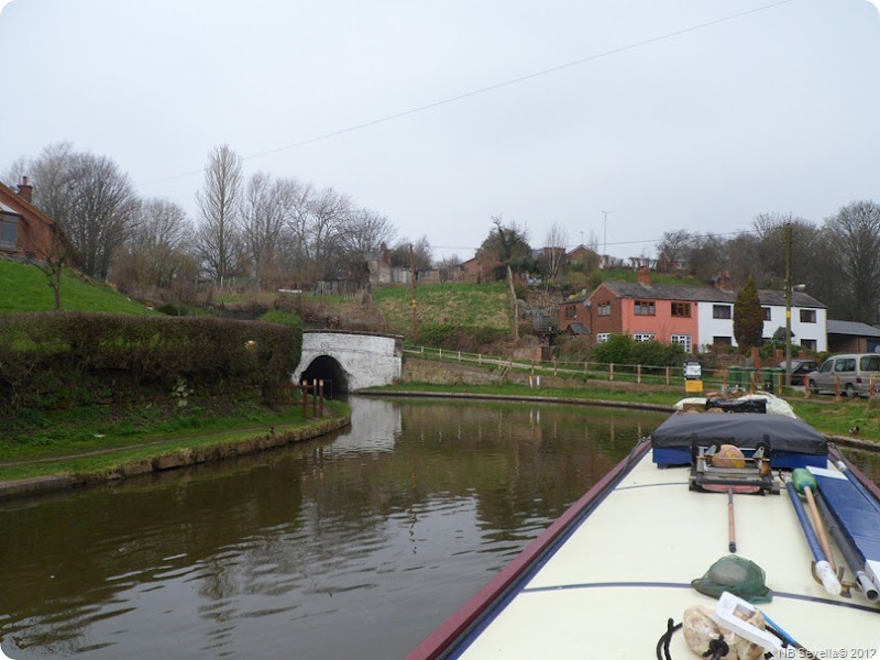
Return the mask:
[[[748,400],[671,416],[407,659],[880,660],[880,491]]]

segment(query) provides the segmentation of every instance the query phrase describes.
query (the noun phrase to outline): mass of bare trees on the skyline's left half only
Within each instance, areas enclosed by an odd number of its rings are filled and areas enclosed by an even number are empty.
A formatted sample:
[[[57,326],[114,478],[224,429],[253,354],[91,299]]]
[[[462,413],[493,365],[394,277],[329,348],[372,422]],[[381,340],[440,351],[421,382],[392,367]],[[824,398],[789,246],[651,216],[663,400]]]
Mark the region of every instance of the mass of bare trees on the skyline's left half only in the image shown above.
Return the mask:
[[[200,278],[222,287],[245,277],[257,290],[363,280],[365,255],[397,234],[387,217],[332,187],[263,172],[245,177],[241,156],[226,144],[208,155],[195,219],[178,204],[140,197],[116,162],[69,143],[19,158],[4,179],[14,184],[22,175],[34,184],[33,204],[62,228],[78,267],[129,290]],[[427,238],[415,248],[419,266],[428,267]],[[409,241],[400,239],[391,254],[408,266]]]

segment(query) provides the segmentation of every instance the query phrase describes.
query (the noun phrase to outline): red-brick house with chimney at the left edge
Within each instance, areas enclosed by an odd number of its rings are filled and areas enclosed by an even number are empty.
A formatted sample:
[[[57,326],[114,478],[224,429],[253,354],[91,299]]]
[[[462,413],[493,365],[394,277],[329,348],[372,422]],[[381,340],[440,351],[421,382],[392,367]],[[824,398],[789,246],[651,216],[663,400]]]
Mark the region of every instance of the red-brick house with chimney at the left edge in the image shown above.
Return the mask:
[[[59,231],[52,218],[31,204],[33,186],[28,177],[16,188],[0,184],[0,256],[45,261]]]

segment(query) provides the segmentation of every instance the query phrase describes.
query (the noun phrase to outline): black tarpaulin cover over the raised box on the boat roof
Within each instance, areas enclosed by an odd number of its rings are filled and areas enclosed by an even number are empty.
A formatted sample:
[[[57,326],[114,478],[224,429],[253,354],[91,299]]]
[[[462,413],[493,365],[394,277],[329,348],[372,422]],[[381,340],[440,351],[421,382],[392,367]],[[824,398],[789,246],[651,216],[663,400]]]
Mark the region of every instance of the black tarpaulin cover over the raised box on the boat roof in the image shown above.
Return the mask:
[[[802,419],[760,413],[689,413],[672,415],[651,433],[651,446],[690,448],[717,442],[755,449],[762,440],[772,451],[823,455],[828,453],[825,438]]]

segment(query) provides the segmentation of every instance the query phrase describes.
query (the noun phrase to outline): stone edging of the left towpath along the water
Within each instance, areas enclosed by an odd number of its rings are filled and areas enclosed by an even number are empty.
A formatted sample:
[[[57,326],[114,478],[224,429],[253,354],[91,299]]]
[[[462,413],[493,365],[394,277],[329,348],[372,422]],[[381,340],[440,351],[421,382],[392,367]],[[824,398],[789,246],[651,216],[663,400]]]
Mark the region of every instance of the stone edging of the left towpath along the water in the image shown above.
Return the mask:
[[[224,459],[243,457],[270,449],[276,449],[278,447],[284,447],[285,444],[314,440],[315,438],[332,433],[333,431],[338,431],[350,425],[351,416],[346,415],[345,417],[326,419],[319,422],[310,424],[307,427],[292,429],[289,431],[270,432],[253,438],[245,438],[243,440],[234,440],[230,442],[218,442],[216,444],[206,447],[164,451],[155,457],[132,461],[130,463],[123,463],[116,470],[101,472],[98,474],[65,473],[47,476],[34,476],[30,479],[0,481],[0,501],[11,499],[14,497],[26,497],[30,495],[40,495],[43,493],[53,493],[56,491],[75,488],[78,486],[88,486],[92,484],[118,481],[129,476],[148,474],[151,472],[158,472],[162,470],[173,470],[175,468],[185,468],[187,465],[196,465],[199,463],[212,463],[216,461],[222,461]]]

